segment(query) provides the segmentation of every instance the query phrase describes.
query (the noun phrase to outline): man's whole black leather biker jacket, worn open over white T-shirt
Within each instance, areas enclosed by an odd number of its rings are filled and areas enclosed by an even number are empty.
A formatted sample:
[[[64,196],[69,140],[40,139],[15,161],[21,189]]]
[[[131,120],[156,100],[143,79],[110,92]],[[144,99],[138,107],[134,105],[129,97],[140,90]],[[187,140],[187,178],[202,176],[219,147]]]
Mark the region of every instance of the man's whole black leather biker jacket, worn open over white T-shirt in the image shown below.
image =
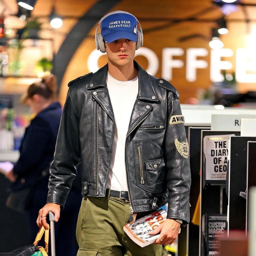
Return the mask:
[[[190,168],[179,94],[169,82],[134,65],[139,93],[123,156],[131,205],[139,212],[168,203],[167,218],[189,222]],[[69,83],[50,167],[48,203],[64,206],[78,164],[82,194],[105,196],[115,135],[107,72],[108,65]]]

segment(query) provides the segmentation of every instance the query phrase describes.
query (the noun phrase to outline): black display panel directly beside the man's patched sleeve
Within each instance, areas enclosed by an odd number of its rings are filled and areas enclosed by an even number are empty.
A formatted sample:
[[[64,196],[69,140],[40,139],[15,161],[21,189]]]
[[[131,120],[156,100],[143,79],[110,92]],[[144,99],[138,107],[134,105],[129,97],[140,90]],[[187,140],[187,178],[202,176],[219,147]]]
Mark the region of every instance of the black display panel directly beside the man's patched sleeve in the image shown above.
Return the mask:
[[[199,226],[191,221],[195,214],[195,209],[200,195],[200,156],[201,156],[201,131],[210,130],[210,127],[188,127],[189,160],[191,172],[190,189],[190,223],[187,232],[187,255],[199,255]]]

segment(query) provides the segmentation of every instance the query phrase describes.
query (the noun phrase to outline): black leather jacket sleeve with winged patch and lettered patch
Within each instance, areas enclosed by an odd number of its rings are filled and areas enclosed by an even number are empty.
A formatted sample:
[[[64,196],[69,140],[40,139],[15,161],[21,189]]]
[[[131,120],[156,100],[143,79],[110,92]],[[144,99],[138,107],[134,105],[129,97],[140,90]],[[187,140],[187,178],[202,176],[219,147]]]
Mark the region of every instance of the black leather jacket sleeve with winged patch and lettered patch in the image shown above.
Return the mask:
[[[190,165],[184,118],[178,97],[168,95],[168,119],[165,137],[167,166],[168,219],[189,222]]]

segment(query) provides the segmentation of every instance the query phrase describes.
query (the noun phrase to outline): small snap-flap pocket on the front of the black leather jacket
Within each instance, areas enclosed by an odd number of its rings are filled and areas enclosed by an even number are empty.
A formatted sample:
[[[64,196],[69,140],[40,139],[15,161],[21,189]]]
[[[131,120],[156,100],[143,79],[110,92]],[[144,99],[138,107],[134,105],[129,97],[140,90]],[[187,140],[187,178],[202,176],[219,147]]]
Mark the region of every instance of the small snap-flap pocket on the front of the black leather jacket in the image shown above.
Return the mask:
[[[163,184],[165,166],[164,160],[157,159],[152,161],[146,161],[146,176],[148,185]]]

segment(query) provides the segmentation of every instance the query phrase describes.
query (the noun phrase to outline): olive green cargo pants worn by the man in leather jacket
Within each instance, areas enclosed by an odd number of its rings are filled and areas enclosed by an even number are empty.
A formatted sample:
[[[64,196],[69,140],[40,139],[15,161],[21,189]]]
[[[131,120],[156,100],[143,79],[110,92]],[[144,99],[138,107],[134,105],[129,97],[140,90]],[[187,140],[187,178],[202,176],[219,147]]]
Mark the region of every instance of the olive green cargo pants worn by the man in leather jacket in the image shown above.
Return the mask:
[[[77,256],[167,255],[162,245],[141,248],[126,235],[123,226],[129,223],[129,206],[129,201],[115,197],[83,197],[76,228]]]

